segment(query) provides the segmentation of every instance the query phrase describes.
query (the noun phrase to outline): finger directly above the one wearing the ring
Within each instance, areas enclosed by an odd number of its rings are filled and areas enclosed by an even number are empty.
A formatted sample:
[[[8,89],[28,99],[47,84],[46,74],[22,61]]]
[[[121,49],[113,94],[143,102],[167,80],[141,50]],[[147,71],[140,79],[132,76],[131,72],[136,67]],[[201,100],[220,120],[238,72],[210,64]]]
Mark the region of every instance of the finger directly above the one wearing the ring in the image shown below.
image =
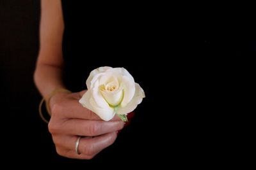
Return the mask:
[[[70,119],[62,124],[56,125],[49,122],[49,131],[51,134],[72,134],[79,136],[99,136],[109,132],[115,132],[124,127],[122,121],[97,121]]]

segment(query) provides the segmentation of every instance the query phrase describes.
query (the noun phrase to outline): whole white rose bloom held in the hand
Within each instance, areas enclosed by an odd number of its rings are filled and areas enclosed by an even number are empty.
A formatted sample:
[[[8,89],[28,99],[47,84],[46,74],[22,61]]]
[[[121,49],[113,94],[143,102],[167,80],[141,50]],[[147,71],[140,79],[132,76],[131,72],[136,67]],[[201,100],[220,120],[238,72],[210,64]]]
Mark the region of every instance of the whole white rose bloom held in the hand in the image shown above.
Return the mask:
[[[94,69],[86,80],[86,86],[88,91],[79,103],[105,121],[111,120],[115,113],[120,118],[125,117],[145,97],[140,85],[121,67]]]

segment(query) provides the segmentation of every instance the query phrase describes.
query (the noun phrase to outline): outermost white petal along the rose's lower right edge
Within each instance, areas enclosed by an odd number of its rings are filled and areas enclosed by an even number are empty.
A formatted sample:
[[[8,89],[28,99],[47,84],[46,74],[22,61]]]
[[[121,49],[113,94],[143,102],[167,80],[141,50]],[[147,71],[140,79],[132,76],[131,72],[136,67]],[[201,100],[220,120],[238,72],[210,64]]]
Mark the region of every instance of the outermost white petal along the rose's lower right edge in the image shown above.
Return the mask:
[[[144,91],[143,89],[141,89],[140,85],[138,83],[135,83],[135,95],[132,98],[131,102],[127,104],[127,106],[125,107],[120,107],[117,110],[117,113],[120,115],[125,115],[127,113],[130,113],[131,111],[133,111],[138,104],[141,103],[143,97],[145,97]]]

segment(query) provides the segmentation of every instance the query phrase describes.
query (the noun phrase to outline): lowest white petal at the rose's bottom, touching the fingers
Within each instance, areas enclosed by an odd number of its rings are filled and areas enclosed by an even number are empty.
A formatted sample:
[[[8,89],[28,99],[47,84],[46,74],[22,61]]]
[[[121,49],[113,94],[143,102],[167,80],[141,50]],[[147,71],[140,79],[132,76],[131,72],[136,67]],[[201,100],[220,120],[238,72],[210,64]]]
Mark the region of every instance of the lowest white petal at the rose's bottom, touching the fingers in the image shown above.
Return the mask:
[[[108,108],[99,108],[93,100],[90,99],[90,104],[93,106],[93,112],[96,113],[102,120],[109,121],[115,116],[114,108],[108,106]]]

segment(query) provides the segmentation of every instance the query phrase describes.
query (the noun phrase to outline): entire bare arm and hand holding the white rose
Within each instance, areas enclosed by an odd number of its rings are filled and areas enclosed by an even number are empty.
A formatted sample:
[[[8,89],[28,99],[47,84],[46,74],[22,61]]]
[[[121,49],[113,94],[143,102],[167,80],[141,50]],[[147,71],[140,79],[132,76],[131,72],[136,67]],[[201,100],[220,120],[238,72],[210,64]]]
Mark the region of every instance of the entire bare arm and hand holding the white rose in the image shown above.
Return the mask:
[[[64,31],[60,0],[41,1],[40,52],[36,62],[34,79],[36,87],[47,97],[55,89],[67,89],[61,75],[63,69],[62,36]],[[56,146],[56,152],[73,159],[92,159],[104,148],[113,144],[117,131],[124,122],[114,117],[104,122],[78,100],[86,90],[68,94],[58,92],[51,97],[51,120],[49,132]],[[75,151],[77,136],[81,138],[78,155]]]

